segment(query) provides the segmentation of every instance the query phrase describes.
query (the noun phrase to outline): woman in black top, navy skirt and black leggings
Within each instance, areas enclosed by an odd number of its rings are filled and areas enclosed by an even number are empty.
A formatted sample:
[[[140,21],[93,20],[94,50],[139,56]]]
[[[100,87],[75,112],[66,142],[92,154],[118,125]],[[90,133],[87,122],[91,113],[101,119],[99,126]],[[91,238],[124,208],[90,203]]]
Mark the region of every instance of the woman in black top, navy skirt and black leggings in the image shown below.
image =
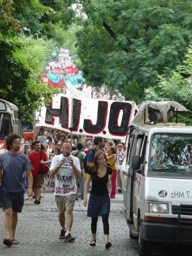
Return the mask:
[[[102,150],[98,150],[93,159],[93,166],[88,170],[86,184],[84,186],[83,204],[84,206],[87,205],[87,193],[90,180],[92,180],[92,190],[88,201],[87,213],[87,216],[92,217],[92,241],[90,246],[95,246],[96,244],[97,220],[98,216],[102,216],[106,249],[109,249],[112,245],[109,243],[108,221],[110,211],[108,182],[111,179],[111,173],[111,168],[107,166],[106,154]]]

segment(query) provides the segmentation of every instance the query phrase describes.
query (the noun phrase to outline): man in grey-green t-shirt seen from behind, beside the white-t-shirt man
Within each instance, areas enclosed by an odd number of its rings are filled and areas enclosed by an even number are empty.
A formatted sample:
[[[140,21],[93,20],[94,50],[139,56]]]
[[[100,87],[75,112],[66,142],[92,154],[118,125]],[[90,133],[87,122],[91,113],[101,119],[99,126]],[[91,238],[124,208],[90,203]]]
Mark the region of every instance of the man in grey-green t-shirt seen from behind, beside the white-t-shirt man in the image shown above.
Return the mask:
[[[77,195],[76,198],[79,197],[79,191],[78,191],[78,184],[80,184],[80,192],[81,192],[81,199],[83,200],[84,198],[84,157],[86,154],[82,152],[81,150],[83,149],[83,144],[82,143],[77,143],[77,150],[72,151],[70,154],[72,156],[76,156],[79,158],[80,166],[81,166],[81,176],[79,179],[76,180],[76,186],[77,186]]]

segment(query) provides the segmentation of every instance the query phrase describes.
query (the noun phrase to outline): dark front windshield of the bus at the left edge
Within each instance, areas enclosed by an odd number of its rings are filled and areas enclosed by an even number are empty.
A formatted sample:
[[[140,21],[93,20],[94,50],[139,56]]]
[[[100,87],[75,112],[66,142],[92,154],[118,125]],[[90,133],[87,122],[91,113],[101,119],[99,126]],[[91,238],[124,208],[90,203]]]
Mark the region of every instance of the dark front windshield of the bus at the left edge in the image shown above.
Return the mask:
[[[12,129],[12,119],[11,116],[7,113],[0,113],[0,139],[6,138],[8,134],[13,132]]]

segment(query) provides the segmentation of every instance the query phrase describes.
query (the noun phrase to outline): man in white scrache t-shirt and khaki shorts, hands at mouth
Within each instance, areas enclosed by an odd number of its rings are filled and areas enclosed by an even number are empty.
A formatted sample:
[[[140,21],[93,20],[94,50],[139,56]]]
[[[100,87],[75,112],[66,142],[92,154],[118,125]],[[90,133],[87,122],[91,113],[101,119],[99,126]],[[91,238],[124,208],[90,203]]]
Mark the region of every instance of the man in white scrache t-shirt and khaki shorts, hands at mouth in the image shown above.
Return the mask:
[[[64,141],[63,154],[53,157],[50,174],[55,175],[54,195],[58,206],[58,220],[61,225],[60,239],[73,242],[70,230],[73,222],[73,209],[76,202],[76,177],[81,176],[79,159],[70,156],[72,145],[70,141]],[[65,221],[66,212],[66,221]],[[66,224],[66,225],[65,225]]]

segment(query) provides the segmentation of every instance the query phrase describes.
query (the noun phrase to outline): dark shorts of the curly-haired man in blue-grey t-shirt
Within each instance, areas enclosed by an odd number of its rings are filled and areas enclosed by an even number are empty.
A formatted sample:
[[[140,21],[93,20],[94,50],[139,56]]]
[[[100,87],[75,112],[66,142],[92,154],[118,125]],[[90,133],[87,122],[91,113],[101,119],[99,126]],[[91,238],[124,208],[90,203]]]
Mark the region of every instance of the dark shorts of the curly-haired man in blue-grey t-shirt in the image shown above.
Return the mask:
[[[24,190],[18,193],[1,191],[0,198],[3,210],[13,209],[15,212],[21,212],[24,205],[24,193]]]

